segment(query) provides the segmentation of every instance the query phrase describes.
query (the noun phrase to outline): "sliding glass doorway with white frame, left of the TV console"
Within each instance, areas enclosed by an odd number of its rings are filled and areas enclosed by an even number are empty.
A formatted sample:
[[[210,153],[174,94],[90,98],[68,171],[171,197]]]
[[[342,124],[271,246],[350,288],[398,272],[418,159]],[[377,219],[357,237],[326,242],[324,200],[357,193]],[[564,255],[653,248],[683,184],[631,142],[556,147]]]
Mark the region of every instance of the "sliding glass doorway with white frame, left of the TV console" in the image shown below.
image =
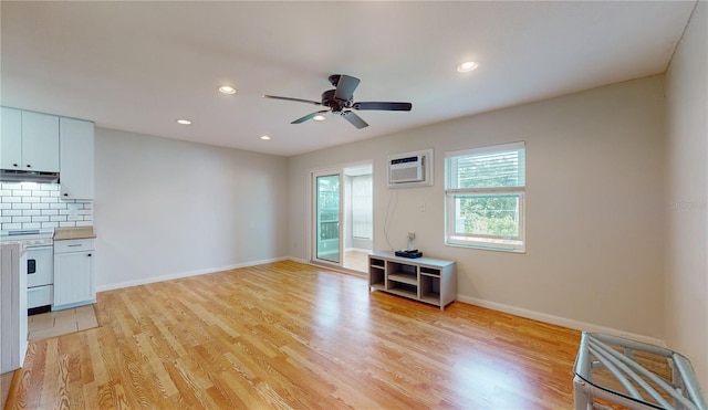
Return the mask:
[[[371,162],[313,172],[312,261],[368,272],[374,249]]]

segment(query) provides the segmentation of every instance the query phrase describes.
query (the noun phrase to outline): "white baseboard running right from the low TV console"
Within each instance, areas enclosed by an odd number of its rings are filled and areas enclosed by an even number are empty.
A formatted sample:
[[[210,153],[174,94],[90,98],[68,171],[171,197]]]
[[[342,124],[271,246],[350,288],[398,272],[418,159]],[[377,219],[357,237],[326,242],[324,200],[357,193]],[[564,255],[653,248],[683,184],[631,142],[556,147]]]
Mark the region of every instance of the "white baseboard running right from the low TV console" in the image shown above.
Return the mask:
[[[635,333],[618,330],[618,329],[615,329],[615,328],[612,328],[612,327],[600,326],[600,325],[595,325],[595,324],[592,324],[592,323],[573,320],[573,319],[570,319],[570,318],[566,318],[566,317],[554,316],[554,315],[549,315],[549,314],[541,313],[541,312],[524,309],[524,308],[517,307],[517,306],[510,306],[510,305],[504,305],[504,304],[501,304],[501,303],[483,301],[483,299],[480,299],[480,298],[477,298],[477,297],[457,295],[457,299],[459,302],[468,303],[470,305],[487,307],[487,308],[490,308],[492,311],[504,312],[504,313],[509,313],[509,314],[512,314],[512,315],[516,315],[516,316],[521,316],[521,317],[525,317],[525,318],[529,318],[529,319],[544,322],[544,323],[549,323],[551,325],[563,326],[563,327],[568,327],[568,328],[571,328],[571,329],[575,329],[575,330],[604,333],[604,334],[607,334],[607,335],[613,335],[613,336],[617,336],[617,337],[624,337],[624,338],[627,338],[627,339],[633,339],[633,340],[637,340],[637,341],[647,343],[649,345],[656,345],[656,346],[662,346],[662,347],[666,347],[667,346],[666,341],[664,341],[662,339],[658,339],[656,337],[644,336],[644,335],[638,335],[638,334],[635,334]]]

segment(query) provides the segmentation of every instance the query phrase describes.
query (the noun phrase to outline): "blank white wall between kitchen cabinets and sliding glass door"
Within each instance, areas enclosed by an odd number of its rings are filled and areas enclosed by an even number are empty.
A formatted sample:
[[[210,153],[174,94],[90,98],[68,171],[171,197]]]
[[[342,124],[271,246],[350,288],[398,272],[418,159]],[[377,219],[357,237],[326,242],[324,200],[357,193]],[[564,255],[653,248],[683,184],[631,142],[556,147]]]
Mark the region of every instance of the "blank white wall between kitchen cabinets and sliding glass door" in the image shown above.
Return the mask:
[[[98,290],[288,255],[287,159],[96,128]]]

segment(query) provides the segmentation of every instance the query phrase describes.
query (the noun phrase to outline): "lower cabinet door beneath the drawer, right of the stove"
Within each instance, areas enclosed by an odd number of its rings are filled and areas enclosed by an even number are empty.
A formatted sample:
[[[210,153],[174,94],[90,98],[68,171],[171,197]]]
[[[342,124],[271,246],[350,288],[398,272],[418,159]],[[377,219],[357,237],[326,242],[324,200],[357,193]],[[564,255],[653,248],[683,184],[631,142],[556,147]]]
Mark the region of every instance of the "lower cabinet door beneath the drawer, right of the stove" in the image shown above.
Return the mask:
[[[96,298],[94,251],[54,254],[54,306]]]

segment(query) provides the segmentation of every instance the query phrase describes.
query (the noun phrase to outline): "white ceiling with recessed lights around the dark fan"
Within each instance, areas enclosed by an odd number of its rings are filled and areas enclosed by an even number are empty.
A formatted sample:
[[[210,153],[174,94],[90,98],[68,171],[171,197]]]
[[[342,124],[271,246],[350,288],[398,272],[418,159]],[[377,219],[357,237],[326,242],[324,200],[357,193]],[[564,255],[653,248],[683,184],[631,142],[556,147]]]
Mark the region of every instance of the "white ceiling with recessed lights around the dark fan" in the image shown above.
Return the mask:
[[[1,2],[2,105],[293,156],[662,73],[695,1]],[[458,73],[473,60],[479,69]],[[321,107],[362,80],[356,129]],[[231,84],[236,95],[217,92]],[[191,126],[176,124],[188,118]],[[272,137],[269,141],[261,135]]]

